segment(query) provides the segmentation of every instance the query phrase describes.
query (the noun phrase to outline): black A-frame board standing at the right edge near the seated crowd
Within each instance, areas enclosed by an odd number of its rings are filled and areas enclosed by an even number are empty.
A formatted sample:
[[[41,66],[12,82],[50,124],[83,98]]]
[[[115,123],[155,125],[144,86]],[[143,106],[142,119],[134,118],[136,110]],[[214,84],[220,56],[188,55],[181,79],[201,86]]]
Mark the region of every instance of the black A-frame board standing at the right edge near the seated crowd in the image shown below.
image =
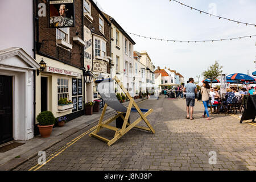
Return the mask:
[[[253,96],[249,96],[248,98],[247,106],[243,111],[240,123],[249,119],[252,119],[254,122],[255,117],[256,117],[256,95],[253,95]]]

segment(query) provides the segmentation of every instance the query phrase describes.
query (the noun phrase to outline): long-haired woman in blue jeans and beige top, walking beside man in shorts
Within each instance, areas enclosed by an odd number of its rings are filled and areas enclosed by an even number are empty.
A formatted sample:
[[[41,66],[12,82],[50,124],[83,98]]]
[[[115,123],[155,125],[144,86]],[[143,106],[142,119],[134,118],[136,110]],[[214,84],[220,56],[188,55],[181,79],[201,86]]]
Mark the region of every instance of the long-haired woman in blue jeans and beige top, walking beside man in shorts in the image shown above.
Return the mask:
[[[208,81],[203,82],[203,87],[201,88],[201,95],[202,95],[202,101],[204,104],[204,115],[203,118],[205,118],[205,114],[207,114],[207,119],[210,120],[209,111],[208,111],[208,104],[209,104],[209,98],[210,98],[210,85]]]

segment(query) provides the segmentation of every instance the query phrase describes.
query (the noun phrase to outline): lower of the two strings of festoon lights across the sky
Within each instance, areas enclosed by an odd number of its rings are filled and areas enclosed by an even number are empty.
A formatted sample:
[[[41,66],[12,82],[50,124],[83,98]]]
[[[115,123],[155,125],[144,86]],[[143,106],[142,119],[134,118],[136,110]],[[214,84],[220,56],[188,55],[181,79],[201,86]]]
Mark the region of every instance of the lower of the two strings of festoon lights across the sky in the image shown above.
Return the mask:
[[[251,38],[254,37],[256,35],[249,35],[249,36],[241,36],[238,38],[226,38],[226,39],[214,39],[214,40],[168,40],[168,39],[159,39],[159,38],[152,38],[152,37],[148,37],[148,36],[144,36],[144,35],[138,35],[138,34],[134,34],[134,33],[130,33],[130,32],[126,32],[126,34],[130,34],[130,35],[135,35],[135,36],[139,36],[141,38],[145,38],[145,39],[151,39],[151,40],[160,40],[160,41],[167,41],[167,42],[186,42],[186,43],[197,43],[197,42],[218,42],[218,41],[222,41],[222,40],[236,40],[236,39],[243,39],[243,38]]]

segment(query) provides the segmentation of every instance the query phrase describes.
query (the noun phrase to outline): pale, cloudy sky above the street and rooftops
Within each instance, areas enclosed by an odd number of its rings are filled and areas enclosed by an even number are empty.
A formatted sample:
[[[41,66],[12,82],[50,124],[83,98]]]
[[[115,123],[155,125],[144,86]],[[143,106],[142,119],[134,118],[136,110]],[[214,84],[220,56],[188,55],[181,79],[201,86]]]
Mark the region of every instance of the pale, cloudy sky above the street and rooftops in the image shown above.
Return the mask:
[[[178,0],[229,19],[256,24],[255,0]],[[170,40],[212,40],[256,35],[256,27],[218,19],[169,0],[97,0],[126,32]],[[201,76],[217,60],[223,73],[256,71],[256,37],[209,43],[178,43],[130,35],[134,50],[148,52],[157,68],[171,68],[189,77]],[[203,80],[201,76],[200,80]]]

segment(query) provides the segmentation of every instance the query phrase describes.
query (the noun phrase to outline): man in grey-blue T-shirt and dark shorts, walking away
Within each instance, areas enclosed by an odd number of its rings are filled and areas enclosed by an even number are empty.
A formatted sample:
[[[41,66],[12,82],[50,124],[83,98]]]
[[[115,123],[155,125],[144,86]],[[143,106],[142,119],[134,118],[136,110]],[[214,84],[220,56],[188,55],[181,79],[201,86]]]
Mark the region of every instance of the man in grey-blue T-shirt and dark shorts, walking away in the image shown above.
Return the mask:
[[[194,79],[193,78],[189,78],[189,83],[185,84],[183,92],[186,92],[186,102],[187,102],[187,119],[189,119],[189,110],[190,110],[190,119],[194,119],[193,118],[193,111],[194,111],[194,106],[195,106],[195,100],[196,100],[196,96],[195,94],[197,94],[197,88],[196,85],[193,84]]]

